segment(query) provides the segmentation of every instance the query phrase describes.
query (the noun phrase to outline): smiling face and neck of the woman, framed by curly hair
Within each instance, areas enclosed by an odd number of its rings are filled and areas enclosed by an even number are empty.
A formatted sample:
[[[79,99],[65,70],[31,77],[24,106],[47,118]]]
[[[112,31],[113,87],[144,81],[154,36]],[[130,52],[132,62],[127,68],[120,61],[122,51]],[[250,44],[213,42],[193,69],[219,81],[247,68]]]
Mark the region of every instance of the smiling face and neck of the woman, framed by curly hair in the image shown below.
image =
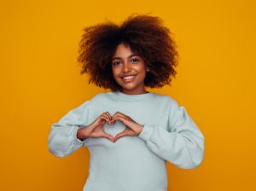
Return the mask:
[[[144,89],[144,79],[149,68],[143,58],[131,51],[129,46],[120,43],[113,55],[112,72],[115,81],[123,87],[125,94],[136,95],[147,93]]]

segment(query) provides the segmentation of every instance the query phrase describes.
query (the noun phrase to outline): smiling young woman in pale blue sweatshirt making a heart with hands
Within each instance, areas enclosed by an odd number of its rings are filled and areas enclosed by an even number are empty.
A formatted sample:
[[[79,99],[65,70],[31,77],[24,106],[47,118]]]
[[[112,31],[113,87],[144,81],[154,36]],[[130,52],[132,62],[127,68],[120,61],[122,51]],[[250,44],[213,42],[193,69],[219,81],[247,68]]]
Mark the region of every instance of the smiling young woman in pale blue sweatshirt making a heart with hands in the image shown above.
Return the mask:
[[[111,92],[69,111],[49,133],[49,152],[65,157],[90,150],[84,191],[166,191],[166,162],[201,165],[204,136],[171,96],[148,92],[176,75],[177,51],[159,17],[132,14],[84,28],[82,72]]]

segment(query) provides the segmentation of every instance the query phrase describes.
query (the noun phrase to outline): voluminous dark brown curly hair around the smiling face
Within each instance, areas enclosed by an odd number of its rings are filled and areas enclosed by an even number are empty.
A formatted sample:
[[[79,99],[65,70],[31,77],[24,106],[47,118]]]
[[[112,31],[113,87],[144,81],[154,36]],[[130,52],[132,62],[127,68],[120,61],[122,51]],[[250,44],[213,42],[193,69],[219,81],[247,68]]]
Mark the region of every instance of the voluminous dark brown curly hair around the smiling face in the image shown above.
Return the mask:
[[[111,59],[119,43],[125,43],[133,52],[142,55],[150,69],[144,79],[145,87],[171,85],[172,77],[177,73],[177,46],[170,30],[162,24],[157,16],[131,14],[120,26],[107,20],[85,27],[77,58],[82,64],[81,74],[89,74],[89,84],[122,90],[113,78]]]

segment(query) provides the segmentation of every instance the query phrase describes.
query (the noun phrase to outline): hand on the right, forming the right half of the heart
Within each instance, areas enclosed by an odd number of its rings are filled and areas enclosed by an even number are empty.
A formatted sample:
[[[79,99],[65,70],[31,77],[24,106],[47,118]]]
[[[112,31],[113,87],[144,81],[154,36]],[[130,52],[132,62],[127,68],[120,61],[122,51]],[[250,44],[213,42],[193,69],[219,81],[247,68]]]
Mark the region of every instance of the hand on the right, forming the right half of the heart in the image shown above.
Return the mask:
[[[120,120],[121,122],[123,122],[123,124],[125,124],[125,130],[123,130],[114,137],[114,142],[116,142],[122,136],[138,136],[143,130],[143,125],[137,124],[136,121],[134,121],[124,113],[114,113],[112,119],[110,120],[110,123],[113,124],[116,120]]]

